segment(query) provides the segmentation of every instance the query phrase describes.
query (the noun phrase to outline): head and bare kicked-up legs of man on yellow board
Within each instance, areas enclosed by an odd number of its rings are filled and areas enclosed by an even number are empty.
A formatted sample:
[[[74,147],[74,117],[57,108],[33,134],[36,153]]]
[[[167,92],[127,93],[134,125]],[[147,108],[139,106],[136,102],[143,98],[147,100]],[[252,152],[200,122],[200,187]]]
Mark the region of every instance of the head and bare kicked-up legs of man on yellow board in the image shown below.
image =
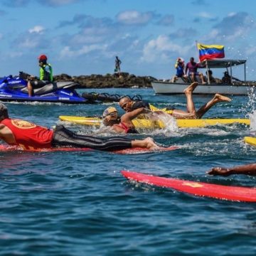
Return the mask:
[[[203,105],[201,108],[199,108],[198,111],[196,111],[196,107],[193,102],[193,90],[196,89],[197,85],[198,82],[192,82],[191,85],[188,85],[188,87],[186,87],[186,89],[183,91],[186,95],[187,111],[168,110],[168,114],[171,114],[171,116],[176,119],[201,119],[203,114],[206,114],[206,112],[208,112],[208,110],[210,110],[210,108],[213,107],[216,103],[231,101],[229,97],[215,94],[212,100],[210,100],[208,103],[206,103],[206,105]],[[122,107],[125,112],[131,112],[135,109],[134,103],[129,99],[129,97],[123,97],[121,100],[119,100],[119,106]],[[161,111],[157,111],[156,113],[164,114],[164,112]]]

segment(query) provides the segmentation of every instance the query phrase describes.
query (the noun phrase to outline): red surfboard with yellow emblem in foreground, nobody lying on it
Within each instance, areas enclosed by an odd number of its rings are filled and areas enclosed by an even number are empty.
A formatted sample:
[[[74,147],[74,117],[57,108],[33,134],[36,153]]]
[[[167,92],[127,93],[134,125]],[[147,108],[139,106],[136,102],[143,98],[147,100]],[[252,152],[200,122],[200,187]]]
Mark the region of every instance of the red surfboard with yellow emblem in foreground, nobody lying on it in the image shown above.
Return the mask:
[[[195,196],[206,196],[231,201],[256,202],[256,188],[184,181],[178,178],[163,178],[148,174],[139,174],[133,171],[121,171],[121,173],[129,180],[164,188],[174,188],[178,191],[190,193]]]

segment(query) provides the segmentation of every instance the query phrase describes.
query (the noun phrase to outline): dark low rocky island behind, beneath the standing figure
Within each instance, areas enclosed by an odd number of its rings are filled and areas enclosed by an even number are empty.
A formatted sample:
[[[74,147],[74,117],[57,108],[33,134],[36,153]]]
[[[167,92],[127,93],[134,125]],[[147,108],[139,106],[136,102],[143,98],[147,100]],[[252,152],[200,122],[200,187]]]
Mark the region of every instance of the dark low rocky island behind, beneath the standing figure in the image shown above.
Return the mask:
[[[156,78],[151,76],[136,76],[129,73],[106,74],[106,75],[78,75],[67,74],[55,75],[54,80],[78,82],[81,88],[146,88],[151,87],[151,82]]]

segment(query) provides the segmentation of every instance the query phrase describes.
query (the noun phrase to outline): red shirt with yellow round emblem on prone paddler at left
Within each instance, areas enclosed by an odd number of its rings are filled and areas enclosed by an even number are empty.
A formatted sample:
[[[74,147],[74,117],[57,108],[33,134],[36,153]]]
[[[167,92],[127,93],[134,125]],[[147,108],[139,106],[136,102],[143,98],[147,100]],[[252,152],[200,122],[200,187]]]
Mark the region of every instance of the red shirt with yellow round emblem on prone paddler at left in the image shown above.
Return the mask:
[[[14,134],[16,145],[23,149],[46,149],[51,147],[53,130],[20,119],[6,118],[1,121]]]

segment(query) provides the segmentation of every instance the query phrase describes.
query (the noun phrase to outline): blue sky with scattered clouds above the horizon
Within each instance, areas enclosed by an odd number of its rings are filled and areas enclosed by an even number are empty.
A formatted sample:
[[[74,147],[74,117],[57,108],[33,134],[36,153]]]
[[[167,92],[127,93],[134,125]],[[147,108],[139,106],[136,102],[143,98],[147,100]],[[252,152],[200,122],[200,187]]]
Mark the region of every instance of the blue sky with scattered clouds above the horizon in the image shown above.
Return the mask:
[[[37,75],[44,53],[55,75],[113,73],[118,55],[124,72],[166,79],[177,57],[198,60],[198,41],[246,59],[256,80],[255,10],[252,0],[0,0],[0,76]]]

